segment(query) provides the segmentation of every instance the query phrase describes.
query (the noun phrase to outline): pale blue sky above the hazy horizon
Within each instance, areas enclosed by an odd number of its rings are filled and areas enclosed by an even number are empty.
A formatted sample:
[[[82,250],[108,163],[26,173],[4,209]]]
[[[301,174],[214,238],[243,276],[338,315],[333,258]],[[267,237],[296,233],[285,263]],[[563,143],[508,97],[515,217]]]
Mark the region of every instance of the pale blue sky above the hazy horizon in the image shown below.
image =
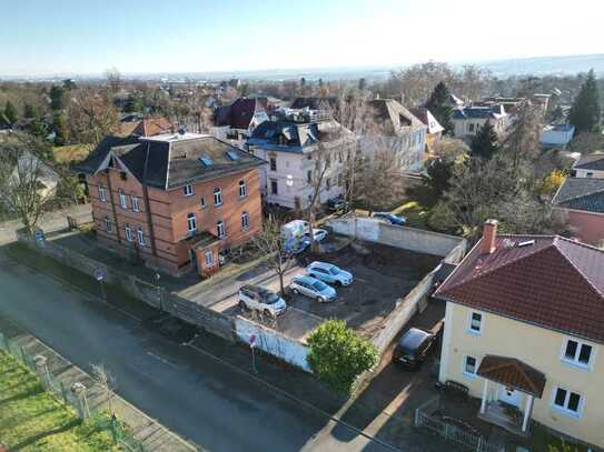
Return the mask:
[[[604,52],[601,0],[3,0],[0,74],[363,67]]]

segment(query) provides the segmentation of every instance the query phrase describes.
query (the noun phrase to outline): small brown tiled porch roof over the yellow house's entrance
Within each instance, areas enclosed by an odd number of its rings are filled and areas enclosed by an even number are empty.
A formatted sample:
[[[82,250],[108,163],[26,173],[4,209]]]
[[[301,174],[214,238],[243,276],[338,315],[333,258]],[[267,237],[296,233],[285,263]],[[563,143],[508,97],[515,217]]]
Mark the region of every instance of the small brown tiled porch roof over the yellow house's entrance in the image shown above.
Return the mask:
[[[477,374],[539,399],[545,388],[545,374],[515,358],[487,354],[481,361]]]

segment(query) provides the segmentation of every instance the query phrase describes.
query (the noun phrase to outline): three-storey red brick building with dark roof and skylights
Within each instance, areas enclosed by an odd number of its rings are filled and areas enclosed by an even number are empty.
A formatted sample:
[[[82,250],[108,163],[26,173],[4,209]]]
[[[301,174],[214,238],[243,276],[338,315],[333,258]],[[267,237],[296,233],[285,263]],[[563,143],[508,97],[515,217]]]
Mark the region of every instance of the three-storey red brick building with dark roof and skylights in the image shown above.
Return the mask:
[[[107,137],[79,165],[99,241],[174,274],[218,270],[261,225],[264,160],[192,133]]]

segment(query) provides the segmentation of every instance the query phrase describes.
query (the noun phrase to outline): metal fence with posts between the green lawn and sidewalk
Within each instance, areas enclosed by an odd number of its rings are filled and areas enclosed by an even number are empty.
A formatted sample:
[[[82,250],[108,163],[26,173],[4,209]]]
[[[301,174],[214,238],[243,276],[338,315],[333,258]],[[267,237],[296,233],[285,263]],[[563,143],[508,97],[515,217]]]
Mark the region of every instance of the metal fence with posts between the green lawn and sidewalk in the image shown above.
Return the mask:
[[[116,444],[119,444],[127,451],[145,451],[142,442],[137,440],[125,424],[116,418],[103,415],[105,413],[101,413],[100,410],[90,410],[86,395],[86,386],[81,383],[67,386],[62,381],[56,379],[48,370],[46,356],[41,354],[32,355],[23,346],[7,338],[1,332],[0,351],[11,354],[36,373],[44,390],[55,395],[66,406],[76,409],[78,416],[82,421],[88,420],[95,422],[95,425],[102,430],[109,430]]]

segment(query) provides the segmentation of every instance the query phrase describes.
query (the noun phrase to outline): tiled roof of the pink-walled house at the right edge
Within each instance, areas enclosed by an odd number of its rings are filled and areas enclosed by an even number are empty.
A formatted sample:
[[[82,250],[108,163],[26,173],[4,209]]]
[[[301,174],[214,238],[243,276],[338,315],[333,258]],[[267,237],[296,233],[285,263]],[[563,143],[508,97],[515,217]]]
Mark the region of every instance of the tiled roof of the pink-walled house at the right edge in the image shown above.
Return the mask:
[[[566,178],[553,202],[562,208],[604,213],[604,179]]]

